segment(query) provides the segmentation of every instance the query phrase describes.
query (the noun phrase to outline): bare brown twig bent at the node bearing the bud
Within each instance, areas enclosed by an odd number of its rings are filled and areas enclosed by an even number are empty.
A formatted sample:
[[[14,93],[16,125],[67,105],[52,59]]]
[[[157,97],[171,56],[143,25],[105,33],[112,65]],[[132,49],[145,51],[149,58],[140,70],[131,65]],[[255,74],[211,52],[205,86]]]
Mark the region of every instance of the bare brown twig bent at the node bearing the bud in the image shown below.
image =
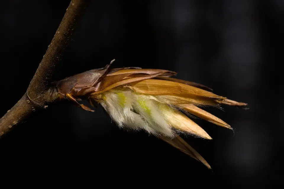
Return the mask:
[[[49,103],[56,100],[57,92],[50,87],[51,76],[89,3],[90,0],[71,0],[27,92],[0,119],[0,136],[21,123],[35,110],[46,109]]]

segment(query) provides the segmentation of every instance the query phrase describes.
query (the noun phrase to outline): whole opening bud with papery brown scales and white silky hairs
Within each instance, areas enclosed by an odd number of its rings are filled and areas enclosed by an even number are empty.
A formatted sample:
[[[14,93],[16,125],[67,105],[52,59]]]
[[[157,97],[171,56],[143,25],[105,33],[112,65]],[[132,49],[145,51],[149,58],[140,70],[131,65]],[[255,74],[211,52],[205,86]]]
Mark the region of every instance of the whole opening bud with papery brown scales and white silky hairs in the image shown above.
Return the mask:
[[[93,110],[79,104],[80,98],[87,99],[91,105],[98,102],[120,128],[144,130],[208,168],[205,159],[179,136],[184,133],[212,139],[187,114],[232,129],[202,107],[247,105],[216,95],[204,85],[172,78],[176,74],[173,71],[109,67],[110,64],[56,82],[59,98],[67,98],[88,111]]]

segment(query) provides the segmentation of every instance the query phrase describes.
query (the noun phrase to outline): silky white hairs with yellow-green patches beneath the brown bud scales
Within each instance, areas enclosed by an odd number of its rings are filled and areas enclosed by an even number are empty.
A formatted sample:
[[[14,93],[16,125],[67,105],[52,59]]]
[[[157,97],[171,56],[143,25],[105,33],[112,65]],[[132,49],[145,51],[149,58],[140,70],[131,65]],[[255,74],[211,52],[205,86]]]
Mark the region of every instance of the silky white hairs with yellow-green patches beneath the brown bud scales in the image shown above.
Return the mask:
[[[120,128],[144,130],[153,135],[175,137],[168,116],[172,108],[162,109],[154,97],[132,91],[104,92],[100,104]],[[165,113],[164,111],[167,111]]]

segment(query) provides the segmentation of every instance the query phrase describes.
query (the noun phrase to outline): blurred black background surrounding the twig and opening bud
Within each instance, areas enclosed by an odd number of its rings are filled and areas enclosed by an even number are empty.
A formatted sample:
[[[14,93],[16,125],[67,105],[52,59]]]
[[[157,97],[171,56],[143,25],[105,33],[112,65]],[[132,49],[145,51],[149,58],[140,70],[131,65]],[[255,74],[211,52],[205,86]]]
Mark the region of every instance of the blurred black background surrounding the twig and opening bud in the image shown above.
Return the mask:
[[[1,2],[1,112],[25,93],[69,0]],[[91,183],[282,184],[284,1],[93,1],[54,80],[104,67],[178,72],[250,110],[210,109],[232,131],[196,120],[213,138],[188,137],[212,170],[170,145],[120,130],[101,108],[62,103],[37,112],[0,140],[0,185]]]

